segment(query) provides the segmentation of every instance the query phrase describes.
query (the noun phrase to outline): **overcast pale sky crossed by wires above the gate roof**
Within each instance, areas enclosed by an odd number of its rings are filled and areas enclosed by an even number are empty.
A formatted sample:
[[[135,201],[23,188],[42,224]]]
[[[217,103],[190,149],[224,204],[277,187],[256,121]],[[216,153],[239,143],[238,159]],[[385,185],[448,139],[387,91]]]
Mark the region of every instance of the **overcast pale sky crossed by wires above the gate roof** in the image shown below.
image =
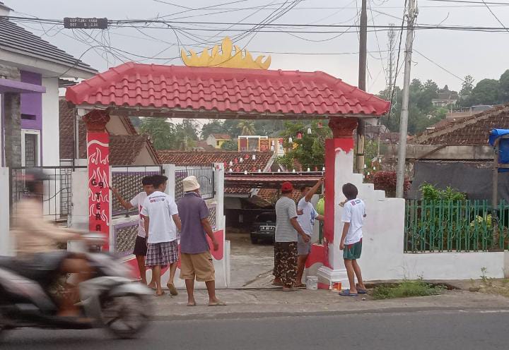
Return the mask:
[[[162,0],[166,1],[166,0]],[[259,23],[276,11],[284,0],[168,0],[172,4],[163,4],[156,0],[4,0],[4,3],[18,13],[12,16],[21,16],[25,13],[40,18],[64,17],[107,17],[109,19],[155,18],[168,16],[166,19],[186,20],[193,24],[186,24],[187,28],[199,28],[202,22],[227,23]],[[358,20],[358,8],[361,1],[357,0],[303,0],[288,11],[275,23],[291,24],[353,24]],[[482,4],[452,3],[431,0],[419,0],[419,24],[442,25],[475,25],[486,27],[501,27],[488,8]],[[491,0],[492,2],[503,0]],[[288,4],[291,1],[288,1]],[[226,4],[230,3],[230,4]],[[233,4],[232,4],[233,3]],[[193,8],[216,6],[208,10],[193,11]],[[262,6],[266,6],[262,8]],[[257,8],[252,8],[257,6]],[[395,23],[401,25],[404,1],[397,0],[368,0],[368,24],[388,25]],[[504,5],[489,5],[491,11],[509,25],[509,2]],[[223,12],[223,13],[219,13]],[[216,14],[214,14],[216,13]],[[169,16],[170,15],[170,16]],[[180,18],[180,19],[177,19]],[[245,18],[243,20],[243,18]],[[144,24],[142,24],[144,26]],[[30,24],[30,31],[40,35],[76,57],[83,55],[83,61],[99,71],[105,71],[108,66],[116,66],[122,61],[105,56],[103,48],[90,49],[91,45],[80,40],[88,40],[83,33],[52,28],[52,25]],[[148,25],[147,25],[148,27]],[[204,27],[201,27],[204,28]],[[225,28],[223,25],[206,25],[206,28]],[[236,26],[237,29],[247,29],[247,26]],[[43,31],[43,29],[45,31]],[[295,30],[302,30],[296,28]],[[344,30],[344,28],[306,28],[308,30]],[[111,28],[109,40],[98,31],[88,31],[92,37],[100,42],[108,42],[112,47],[122,49],[131,60],[142,59],[139,56],[159,59],[147,59],[143,62],[165,63],[182,65],[182,60],[168,59],[179,56],[179,44],[187,49],[198,50],[204,47],[197,44],[197,40],[218,40],[225,35],[238,35],[240,32],[216,31],[189,31],[185,34],[175,33],[169,29],[151,28]],[[176,35],[177,34],[177,35]],[[213,37],[216,35],[216,37]],[[206,38],[211,36],[213,38]],[[311,34],[305,33],[293,37],[284,32],[259,32],[254,37],[249,36],[240,42],[240,47],[246,47],[254,56],[262,52],[293,52],[293,53],[322,53],[320,55],[304,54],[271,54],[271,69],[298,69],[300,71],[324,71],[347,83],[357,85],[358,82],[358,35],[355,31],[338,34]],[[404,35],[402,42],[402,58],[404,48]],[[397,32],[399,40],[399,32]],[[251,40],[250,42],[248,42]],[[315,40],[312,42],[310,40]],[[318,42],[316,42],[318,41]],[[368,33],[368,91],[377,93],[386,85],[387,73],[387,32]],[[459,90],[463,78],[467,74],[474,76],[476,81],[482,78],[498,79],[506,68],[509,68],[509,32],[459,32],[448,30],[419,30],[416,32],[412,60],[411,76],[421,80],[433,79],[438,85],[447,84],[450,89]],[[193,46],[197,45],[197,46]],[[207,45],[210,46],[210,45]],[[86,50],[88,51],[86,52]],[[86,52],[85,54],[83,54]],[[347,54],[345,54],[347,53]],[[354,54],[348,54],[354,53]],[[433,64],[423,56],[435,62]],[[139,56],[134,56],[139,55]],[[381,57],[381,59],[380,59]],[[124,61],[128,59],[122,57]],[[108,64],[107,60],[110,61]],[[447,73],[442,66],[451,73]],[[403,73],[398,76],[399,85],[402,84]]]

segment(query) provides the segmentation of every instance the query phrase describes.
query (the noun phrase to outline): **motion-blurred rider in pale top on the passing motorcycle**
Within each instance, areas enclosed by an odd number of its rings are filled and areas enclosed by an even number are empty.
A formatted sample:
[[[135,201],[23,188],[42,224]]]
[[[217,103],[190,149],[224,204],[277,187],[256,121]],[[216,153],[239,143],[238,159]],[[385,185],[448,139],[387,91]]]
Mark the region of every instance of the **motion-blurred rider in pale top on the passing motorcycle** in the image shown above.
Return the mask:
[[[42,218],[43,181],[48,176],[41,169],[26,169],[23,179],[26,191],[13,212],[17,258],[44,288],[62,274],[76,274],[76,286],[66,285],[59,315],[78,317],[77,286],[90,276],[90,265],[83,255],[58,249],[57,244],[80,240],[80,233],[59,228]]]

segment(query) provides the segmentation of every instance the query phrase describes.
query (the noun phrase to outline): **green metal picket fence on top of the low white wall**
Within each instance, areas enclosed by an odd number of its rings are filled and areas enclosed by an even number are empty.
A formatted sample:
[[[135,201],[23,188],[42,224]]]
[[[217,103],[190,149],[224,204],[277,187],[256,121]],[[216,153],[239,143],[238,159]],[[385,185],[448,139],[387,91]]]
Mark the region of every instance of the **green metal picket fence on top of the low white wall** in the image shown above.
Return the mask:
[[[509,204],[493,214],[486,200],[407,200],[406,252],[493,251],[508,248]],[[494,229],[493,229],[494,227]]]

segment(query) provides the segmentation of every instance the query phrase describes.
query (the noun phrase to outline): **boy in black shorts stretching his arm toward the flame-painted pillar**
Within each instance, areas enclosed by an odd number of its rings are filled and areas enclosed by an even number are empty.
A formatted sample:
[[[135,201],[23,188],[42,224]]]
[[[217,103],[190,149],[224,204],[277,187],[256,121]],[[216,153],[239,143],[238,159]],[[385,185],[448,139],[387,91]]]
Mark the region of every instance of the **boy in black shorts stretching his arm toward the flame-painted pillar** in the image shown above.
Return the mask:
[[[134,196],[133,199],[124,200],[122,198],[122,195],[120,195],[117,188],[110,188],[112,193],[115,194],[115,197],[117,197],[117,200],[119,200],[119,203],[124,207],[125,209],[129,210],[132,208],[138,209],[139,212],[139,223],[138,223],[138,236],[136,236],[136,242],[134,243],[134,251],[133,254],[136,256],[136,261],[138,262],[138,269],[140,272],[141,277],[141,283],[147,284],[146,282],[146,267],[145,267],[145,257],[146,257],[146,250],[147,250],[147,243],[146,243],[146,234],[145,234],[145,223],[144,223],[144,217],[141,215],[141,209],[143,208],[143,203],[145,202],[145,199],[147,198],[147,195],[151,195],[153,193],[154,188],[152,184],[152,176],[144,176],[143,179],[141,179],[141,185],[143,186],[144,191],[138,193]],[[149,286],[153,284],[151,282]]]

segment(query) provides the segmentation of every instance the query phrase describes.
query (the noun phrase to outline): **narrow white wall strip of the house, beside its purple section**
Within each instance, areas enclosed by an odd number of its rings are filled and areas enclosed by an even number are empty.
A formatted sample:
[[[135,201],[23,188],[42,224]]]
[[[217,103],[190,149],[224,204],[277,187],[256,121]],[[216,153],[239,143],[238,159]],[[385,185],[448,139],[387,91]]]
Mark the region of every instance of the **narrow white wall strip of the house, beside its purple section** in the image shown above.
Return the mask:
[[[42,165],[60,164],[58,78],[42,78]]]

